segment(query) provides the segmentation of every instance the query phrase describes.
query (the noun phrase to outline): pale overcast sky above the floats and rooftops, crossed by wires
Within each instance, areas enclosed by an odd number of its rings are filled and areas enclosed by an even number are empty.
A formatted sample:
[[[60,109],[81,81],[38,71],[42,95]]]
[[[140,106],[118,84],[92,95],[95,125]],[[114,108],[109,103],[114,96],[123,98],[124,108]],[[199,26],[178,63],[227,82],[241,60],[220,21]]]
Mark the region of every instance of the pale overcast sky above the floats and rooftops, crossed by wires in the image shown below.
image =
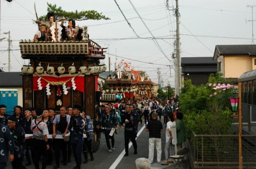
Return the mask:
[[[90,39],[102,47],[108,47],[109,44],[107,52],[111,59],[110,69],[114,70],[115,55],[121,56],[127,58],[125,60],[131,62],[135,70],[147,71],[151,80],[156,83],[159,67],[164,86],[170,82],[171,87],[174,87],[174,70],[171,69],[170,74],[169,67],[165,65],[173,65],[171,56],[176,38],[176,17],[173,10],[166,9],[166,0],[130,0],[145,25],[129,0],[116,0],[140,38],[136,38],[114,0],[14,0],[11,3],[0,1],[0,38],[8,38],[8,34],[4,32],[11,32],[11,71],[20,71],[23,64],[29,63],[29,60],[21,58],[19,40],[33,39],[37,31],[37,25],[32,21],[36,19],[34,2],[38,16],[46,15],[48,2],[66,11],[102,12],[111,20],[77,21],[76,25],[88,26]],[[246,20],[252,20],[252,8],[246,7],[247,5],[256,5],[256,1],[180,0],[181,57],[212,57],[216,45],[251,44],[252,22]],[[176,7],[176,1],[169,0],[169,6],[169,9]],[[256,8],[253,9],[253,17],[256,18]],[[154,43],[153,37],[162,38],[156,42],[163,52]],[[5,71],[8,71],[7,48],[8,42],[4,39],[0,42],[0,67]],[[117,57],[117,63],[123,58]],[[104,63],[108,65],[108,54]]]

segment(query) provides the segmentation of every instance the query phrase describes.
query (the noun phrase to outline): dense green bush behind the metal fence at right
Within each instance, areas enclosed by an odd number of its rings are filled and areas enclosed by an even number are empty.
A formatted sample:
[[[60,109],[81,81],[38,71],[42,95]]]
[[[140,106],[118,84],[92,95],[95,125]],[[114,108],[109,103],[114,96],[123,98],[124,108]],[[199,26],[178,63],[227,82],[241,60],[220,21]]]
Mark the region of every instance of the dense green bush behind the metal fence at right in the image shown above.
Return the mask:
[[[196,134],[230,134],[232,120],[227,98],[234,95],[235,89],[231,88],[212,95],[214,89],[208,85],[223,82],[224,79],[219,73],[211,74],[205,85],[195,86],[191,80],[184,82],[179,102],[188,137],[191,130]]]

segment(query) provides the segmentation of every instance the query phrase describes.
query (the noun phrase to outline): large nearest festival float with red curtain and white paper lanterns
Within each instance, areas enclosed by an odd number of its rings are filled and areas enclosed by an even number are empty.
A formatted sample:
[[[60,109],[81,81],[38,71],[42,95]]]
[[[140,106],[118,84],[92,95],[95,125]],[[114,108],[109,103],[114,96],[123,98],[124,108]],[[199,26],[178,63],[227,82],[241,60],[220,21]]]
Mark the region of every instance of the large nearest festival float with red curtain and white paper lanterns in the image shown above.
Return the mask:
[[[59,110],[61,106],[81,105],[94,121],[93,149],[99,146],[97,125],[99,113],[95,108],[98,74],[107,67],[105,49],[88,38],[86,26],[78,27],[82,40],[66,41],[61,38],[61,27],[51,27],[52,40],[19,42],[21,57],[29,60],[22,67],[23,107],[43,107]]]

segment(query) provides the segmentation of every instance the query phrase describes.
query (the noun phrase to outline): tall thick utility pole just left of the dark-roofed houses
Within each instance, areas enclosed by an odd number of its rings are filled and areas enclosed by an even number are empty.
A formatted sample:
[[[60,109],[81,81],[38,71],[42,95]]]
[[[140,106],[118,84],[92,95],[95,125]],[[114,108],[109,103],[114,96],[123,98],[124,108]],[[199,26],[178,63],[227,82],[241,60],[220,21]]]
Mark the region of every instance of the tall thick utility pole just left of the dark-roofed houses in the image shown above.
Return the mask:
[[[178,8],[178,0],[176,0],[176,38],[177,38],[177,46],[176,46],[176,55],[177,55],[177,94],[180,95],[181,88],[181,58],[180,58],[180,13]]]

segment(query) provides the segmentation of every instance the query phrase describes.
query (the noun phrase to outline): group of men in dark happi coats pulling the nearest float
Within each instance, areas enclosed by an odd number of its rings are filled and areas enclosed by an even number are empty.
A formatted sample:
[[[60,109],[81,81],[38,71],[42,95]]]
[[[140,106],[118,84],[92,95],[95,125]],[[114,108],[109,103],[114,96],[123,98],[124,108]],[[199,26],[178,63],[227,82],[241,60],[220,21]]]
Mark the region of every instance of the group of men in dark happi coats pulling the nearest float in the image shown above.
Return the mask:
[[[12,163],[13,169],[25,169],[33,160],[35,169],[39,169],[39,160],[42,156],[42,169],[52,165],[53,150],[55,153],[54,168],[60,168],[60,151],[65,166],[71,162],[71,153],[74,154],[76,166],[80,169],[82,152],[84,164],[93,161],[93,122],[84,113],[79,105],[74,107],[60,107],[58,114],[49,109],[22,109],[14,107],[14,114],[6,114],[6,106],[0,105],[0,168],[4,169],[7,162]],[[8,127],[7,127],[8,126]],[[69,141],[64,139],[69,133]],[[27,136],[25,137],[25,134]],[[29,135],[30,134],[30,135]],[[47,135],[51,135],[48,138]],[[87,137],[84,138],[84,134]],[[61,138],[57,138],[57,137]],[[56,139],[55,139],[56,138]],[[10,152],[10,155],[8,155]],[[30,154],[31,152],[31,154]],[[23,165],[23,158],[27,163]]]

